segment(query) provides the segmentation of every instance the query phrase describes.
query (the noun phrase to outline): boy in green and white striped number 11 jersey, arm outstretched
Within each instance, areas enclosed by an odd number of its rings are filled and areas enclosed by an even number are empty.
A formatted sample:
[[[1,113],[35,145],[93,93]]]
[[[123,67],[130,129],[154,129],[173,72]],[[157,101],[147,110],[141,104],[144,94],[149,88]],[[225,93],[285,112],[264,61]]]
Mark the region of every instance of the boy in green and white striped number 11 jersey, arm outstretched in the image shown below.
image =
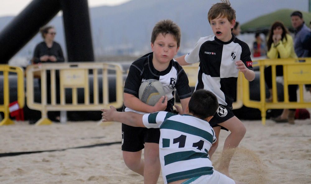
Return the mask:
[[[182,109],[176,106],[179,112]],[[165,184],[241,184],[213,169],[208,150],[216,141],[208,121],[218,109],[216,96],[201,89],[193,93],[186,109],[176,115],[160,111],[151,114],[102,109],[103,122],[118,121],[130,126],[160,128],[160,163]]]

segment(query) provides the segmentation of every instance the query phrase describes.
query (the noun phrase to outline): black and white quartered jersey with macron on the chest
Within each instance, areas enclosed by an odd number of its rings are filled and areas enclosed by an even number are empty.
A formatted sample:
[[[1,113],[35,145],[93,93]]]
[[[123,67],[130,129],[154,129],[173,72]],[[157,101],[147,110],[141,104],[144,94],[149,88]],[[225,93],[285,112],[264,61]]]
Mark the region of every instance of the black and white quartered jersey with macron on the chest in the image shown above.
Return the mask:
[[[239,75],[235,61],[242,60],[248,69],[253,70],[250,54],[248,45],[234,35],[229,42],[214,35],[200,38],[185,56],[187,63],[200,62],[195,90],[207,89],[217,96],[219,104],[232,108]]]

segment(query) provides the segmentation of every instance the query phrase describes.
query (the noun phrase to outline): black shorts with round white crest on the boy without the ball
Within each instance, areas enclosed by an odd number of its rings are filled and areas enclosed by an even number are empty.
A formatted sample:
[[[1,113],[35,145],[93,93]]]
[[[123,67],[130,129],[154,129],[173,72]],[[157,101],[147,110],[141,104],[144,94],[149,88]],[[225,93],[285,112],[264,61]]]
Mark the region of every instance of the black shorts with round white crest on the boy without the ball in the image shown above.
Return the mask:
[[[232,118],[234,116],[232,109],[228,106],[219,104],[219,107],[214,114],[214,117],[210,120],[211,127],[218,127],[220,126],[219,123],[223,123],[227,121],[228,119]],[[221,127],[221,126],[220,126]],[[227,130],[227,128],[221,127],[221,129]]]

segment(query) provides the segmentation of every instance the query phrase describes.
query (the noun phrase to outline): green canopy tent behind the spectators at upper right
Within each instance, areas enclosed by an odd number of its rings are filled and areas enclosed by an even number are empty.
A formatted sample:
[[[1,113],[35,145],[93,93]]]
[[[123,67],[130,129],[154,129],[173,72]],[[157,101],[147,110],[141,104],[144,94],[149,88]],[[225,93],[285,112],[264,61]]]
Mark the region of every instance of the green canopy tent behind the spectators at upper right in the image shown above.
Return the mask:
[[[275,12],[259,16],[253,20],[250,20],[241,25],[241,33],[264,33],[267,34],[275,21],[281,21],[290,32],[294,31],[294,28],[290,22],[290,14],[296,10],[281,9]],[[311,13],[302,11],[304,22],[309,27],[311,20]]]

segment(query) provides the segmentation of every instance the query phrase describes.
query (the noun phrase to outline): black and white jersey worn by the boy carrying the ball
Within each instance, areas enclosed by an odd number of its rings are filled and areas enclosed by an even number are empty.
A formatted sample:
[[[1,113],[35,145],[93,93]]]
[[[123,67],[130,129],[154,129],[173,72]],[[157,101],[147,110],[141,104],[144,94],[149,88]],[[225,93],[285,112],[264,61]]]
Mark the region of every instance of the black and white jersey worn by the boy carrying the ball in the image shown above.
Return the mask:
[[[189,81],[183,68],[174,59],[164,71],[158,71],[152,64],[153,52],[134,61],[125,80],[124,92],[138,98],[139,87],[147,79],[159,80],[167,95],[167,112],[173,112],[174,92],[177,90],[180,99],[191,97]],[[127,110],[126,110],[127,111]]]

